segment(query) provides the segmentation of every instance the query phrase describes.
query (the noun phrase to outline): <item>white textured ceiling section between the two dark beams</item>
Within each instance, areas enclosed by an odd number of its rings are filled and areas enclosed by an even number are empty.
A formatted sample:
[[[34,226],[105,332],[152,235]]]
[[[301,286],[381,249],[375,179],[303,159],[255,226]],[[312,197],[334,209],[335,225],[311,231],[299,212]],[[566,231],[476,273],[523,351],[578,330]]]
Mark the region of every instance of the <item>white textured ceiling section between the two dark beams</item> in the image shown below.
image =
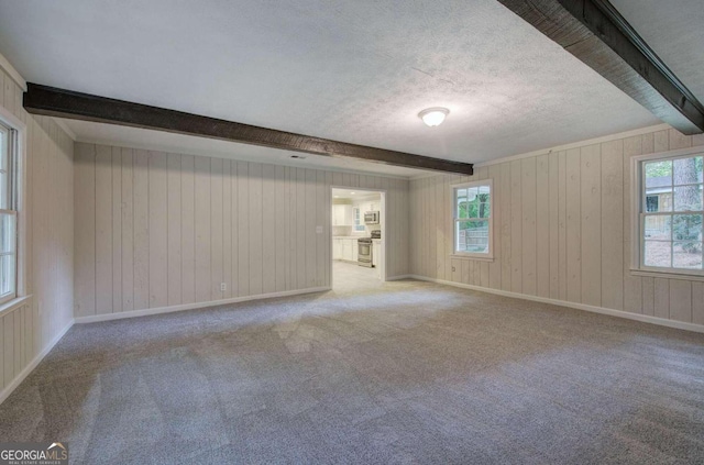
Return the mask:
[[[0,0],[0,53],[29,81],[471,163],[659,122],[494,0]]]

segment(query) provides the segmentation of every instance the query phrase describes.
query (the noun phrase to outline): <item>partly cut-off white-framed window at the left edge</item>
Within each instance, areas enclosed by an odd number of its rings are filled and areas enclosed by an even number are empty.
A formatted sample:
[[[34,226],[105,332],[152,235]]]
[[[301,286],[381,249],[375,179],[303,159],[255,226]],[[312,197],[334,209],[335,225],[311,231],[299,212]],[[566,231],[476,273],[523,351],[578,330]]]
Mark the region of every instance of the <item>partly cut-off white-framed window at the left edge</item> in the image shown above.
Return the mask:
[[[16,297],[16,131],[0,123],[0,303]]]

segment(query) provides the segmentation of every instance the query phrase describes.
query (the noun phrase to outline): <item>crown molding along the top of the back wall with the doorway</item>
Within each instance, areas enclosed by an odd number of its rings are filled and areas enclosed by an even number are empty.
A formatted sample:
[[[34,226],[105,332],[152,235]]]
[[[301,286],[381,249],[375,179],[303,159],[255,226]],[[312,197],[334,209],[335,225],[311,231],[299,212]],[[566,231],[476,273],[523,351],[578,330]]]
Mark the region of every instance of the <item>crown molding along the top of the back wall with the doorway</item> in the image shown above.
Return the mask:
[[[321,171],[346,173],[350,175],[359,175],[359,176],[377,176],[381,178],[389,178],[389,179],[402,179],[402,180],[410,179],[409,176],[388,175],[385,173],[370,173],[370,171],[362,171],[359,169],[338,168],[334,166],[321,166],[316,164],[307,164],[306,162],[296,163],[296,162],[285,162],[285,160],[262,160],[253,156],[248,157],[248,156],[238,156],[238,155],[228,156],[223,154],[213,154],[212,152],[208,152],[207,150],[202,150],[202,151],[199,151],[199,150],[189,151],[189,150],[183,150],[183,148],[176,150],[173,146],[167,146],[163,144],[136,144],[131,142],[118,143],[114,141],[108,141],[108,140],[101,140],[101,139],[84,137],[81,135],[78,135],[76,139],[74,139],[74,141],[82,144],[108,145],[111,147],[133,148],[138,151],[165,152],[165,153],[179,154],[179,155],[207,156],[211,158],[222,158],[222,159],[230,159],[235,162],[261,163],[262,165],[278,165],[278,166],[288,166],[292,168],[318,169]],[[311,155],[311,156],[315,156],[315,155]]]

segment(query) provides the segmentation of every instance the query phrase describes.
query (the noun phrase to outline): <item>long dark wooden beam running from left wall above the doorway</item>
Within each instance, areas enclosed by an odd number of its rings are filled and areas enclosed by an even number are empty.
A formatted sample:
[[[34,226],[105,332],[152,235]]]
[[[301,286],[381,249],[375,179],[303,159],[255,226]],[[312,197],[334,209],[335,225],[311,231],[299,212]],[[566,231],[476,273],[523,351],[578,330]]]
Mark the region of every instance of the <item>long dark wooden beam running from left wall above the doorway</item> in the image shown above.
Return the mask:
[[[26,87],[23,104],[24,109],[33,114],[167,131],[315,155],[356,158],[407,168],[463,175],[473,174],[470,163],[311,137],[37,84],[28,82]]]

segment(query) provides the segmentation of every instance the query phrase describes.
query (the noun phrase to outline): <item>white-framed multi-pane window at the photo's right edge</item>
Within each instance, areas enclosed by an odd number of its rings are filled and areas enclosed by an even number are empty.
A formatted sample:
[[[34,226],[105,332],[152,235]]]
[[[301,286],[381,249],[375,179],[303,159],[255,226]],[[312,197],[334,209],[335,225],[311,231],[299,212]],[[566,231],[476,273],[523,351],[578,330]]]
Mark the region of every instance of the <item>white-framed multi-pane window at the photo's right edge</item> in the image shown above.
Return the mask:
[[[703,162],[701,150],[637,158],[637,268],[704,275]]]

